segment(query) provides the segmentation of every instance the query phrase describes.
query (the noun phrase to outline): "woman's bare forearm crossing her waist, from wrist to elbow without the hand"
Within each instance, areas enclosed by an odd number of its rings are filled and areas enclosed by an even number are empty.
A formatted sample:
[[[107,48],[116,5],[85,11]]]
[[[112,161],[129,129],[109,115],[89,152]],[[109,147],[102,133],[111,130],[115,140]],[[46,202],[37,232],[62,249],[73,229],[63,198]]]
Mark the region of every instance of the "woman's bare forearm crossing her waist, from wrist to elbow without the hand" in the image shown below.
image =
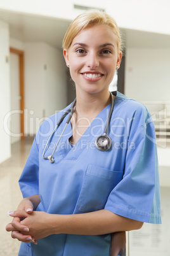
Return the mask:
[[[115,215],[108,210],[76,215],[51,215],[49,226],[53,234],[100,235],[140,229],[143,222]]]

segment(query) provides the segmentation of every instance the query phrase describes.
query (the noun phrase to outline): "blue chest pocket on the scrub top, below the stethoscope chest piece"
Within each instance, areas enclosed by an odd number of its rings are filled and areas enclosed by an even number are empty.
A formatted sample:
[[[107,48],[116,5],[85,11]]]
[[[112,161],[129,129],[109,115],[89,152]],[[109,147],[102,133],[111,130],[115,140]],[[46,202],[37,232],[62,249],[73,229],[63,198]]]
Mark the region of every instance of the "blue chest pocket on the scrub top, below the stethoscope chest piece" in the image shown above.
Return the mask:
[[[122,180],[122,175],[122,171],[110,171],[89,164],[77,201],[77,209],[81,212],[90,212],[105,208],[110,192]]]

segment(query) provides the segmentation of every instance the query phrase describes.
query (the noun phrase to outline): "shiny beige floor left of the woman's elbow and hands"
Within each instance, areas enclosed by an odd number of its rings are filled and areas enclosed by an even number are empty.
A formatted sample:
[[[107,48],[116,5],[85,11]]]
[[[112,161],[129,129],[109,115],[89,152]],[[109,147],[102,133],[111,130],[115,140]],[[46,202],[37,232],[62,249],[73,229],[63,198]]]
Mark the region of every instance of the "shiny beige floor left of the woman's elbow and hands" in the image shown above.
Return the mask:
[[[8,211],[16,210],[22,199],[18,178],[29,155],[32,138],[16,142],[11,148],[11,158],[0,164],[0,255],[16,256],[20,242],[11,238],[5,227],[11,221]]]

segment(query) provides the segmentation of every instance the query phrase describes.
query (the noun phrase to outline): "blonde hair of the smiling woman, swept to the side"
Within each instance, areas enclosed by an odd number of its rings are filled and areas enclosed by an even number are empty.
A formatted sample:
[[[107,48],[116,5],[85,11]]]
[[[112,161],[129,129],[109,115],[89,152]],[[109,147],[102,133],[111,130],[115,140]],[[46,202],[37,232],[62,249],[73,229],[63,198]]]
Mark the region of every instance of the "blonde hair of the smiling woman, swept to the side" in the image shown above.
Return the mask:
[[[72,21],[63,38],[63,48],[69,49],[75,36],[88,25],[108,25],[117,36],[117,49],[118,52],[121,52],[121,35],[119,27],[114,18],[100,10],[85,11]]]

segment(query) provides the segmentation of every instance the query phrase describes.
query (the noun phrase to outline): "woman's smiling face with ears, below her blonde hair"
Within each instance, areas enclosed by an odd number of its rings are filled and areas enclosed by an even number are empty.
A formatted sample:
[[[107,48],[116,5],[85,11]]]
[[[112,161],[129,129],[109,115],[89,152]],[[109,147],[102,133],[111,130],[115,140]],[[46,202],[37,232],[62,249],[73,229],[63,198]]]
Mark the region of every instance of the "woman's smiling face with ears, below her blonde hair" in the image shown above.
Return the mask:
[[[115,69],[121,63],[117,36],[107,25],[91,25],[75,36],[63,54],[69,63],[76,93],[108,92]]]

